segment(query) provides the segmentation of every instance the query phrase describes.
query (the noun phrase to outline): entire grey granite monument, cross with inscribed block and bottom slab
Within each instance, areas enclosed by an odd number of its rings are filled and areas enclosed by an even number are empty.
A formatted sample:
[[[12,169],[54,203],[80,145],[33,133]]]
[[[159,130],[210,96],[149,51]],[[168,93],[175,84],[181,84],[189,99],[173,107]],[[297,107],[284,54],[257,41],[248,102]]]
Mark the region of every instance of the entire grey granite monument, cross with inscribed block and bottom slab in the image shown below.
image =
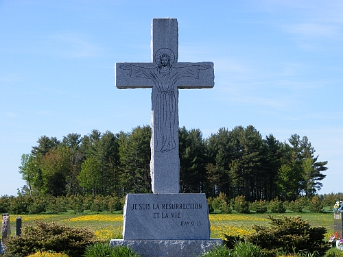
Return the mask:
[[[204,194],[179,194],[178,88],[212,88],[213,62],[178,62],[176,19],[152,20],[152,62],[115,64],[117,88],[152,88],[150,172],[154,194],[129,194],[123,240],[142,257],[196,256],[220,239],[210,239]]]

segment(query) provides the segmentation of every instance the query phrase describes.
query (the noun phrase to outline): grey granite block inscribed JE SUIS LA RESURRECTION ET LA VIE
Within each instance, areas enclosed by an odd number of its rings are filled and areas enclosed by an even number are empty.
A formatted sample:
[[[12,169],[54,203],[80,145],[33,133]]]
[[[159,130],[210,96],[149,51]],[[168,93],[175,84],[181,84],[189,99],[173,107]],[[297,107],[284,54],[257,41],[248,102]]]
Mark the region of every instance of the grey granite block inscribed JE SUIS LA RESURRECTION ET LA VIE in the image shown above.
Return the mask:
[[[129,194],[124,206],[124,240],[209,239],[204,194]]]

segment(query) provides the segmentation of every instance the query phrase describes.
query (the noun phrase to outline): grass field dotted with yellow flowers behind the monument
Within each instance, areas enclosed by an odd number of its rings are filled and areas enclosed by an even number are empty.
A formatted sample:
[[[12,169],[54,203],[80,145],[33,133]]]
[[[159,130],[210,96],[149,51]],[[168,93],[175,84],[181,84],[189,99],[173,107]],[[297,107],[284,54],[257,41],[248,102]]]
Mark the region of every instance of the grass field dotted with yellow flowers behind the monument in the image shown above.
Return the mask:
[[[75,227],[86,227],[95,232],[98,238],[113,239],[121,238],[123,230],[123,215],[121,213],[86,213],[73,214],[66,213],[61,215],[17,215],[22,217],[23,225],[33,225],[35,220],[41,221],[56,221],[65,225]],[[327,228],[325,240],[333,235],[333,214],[327,213],[285,213],[272,214],[273,217],[281,216],[301,216],[307,219],[310,225],[322,226]],[[211,222],[211,238],[224,238],[223,234],[244,235],[250,234],[252,225],[267,225],[268,217],[266,214],[211,214],[209,215]],[[12,234],[16,231],[16,215],[10,215]]]

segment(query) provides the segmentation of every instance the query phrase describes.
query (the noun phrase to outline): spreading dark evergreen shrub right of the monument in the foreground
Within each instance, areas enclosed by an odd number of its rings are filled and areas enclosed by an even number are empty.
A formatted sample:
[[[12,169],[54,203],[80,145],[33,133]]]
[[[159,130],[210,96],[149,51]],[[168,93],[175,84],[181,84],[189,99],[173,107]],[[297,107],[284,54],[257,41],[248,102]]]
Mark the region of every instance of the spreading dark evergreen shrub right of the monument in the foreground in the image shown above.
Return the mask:
[[[253,225],[254,233],[245,239],[259,245],[268,252],[299,253],[307,250],[310,254],[318,252],[321,256],[329,249],[329,243],[324,241],[327,231],[324,227],[311,227],[309,221],[301,217],[274,218],[268,215],[270,225]]]

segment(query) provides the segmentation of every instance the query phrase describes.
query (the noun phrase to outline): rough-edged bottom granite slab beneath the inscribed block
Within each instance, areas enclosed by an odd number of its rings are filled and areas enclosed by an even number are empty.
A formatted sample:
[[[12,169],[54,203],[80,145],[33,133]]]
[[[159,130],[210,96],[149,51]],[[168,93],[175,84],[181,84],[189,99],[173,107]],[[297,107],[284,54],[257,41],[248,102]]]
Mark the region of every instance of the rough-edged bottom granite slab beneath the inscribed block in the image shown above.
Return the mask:
[[[222,239],[207,240],[123,240],[113,239],[111,246],[125,245],[141,257],[196,257],[222,245]]]

